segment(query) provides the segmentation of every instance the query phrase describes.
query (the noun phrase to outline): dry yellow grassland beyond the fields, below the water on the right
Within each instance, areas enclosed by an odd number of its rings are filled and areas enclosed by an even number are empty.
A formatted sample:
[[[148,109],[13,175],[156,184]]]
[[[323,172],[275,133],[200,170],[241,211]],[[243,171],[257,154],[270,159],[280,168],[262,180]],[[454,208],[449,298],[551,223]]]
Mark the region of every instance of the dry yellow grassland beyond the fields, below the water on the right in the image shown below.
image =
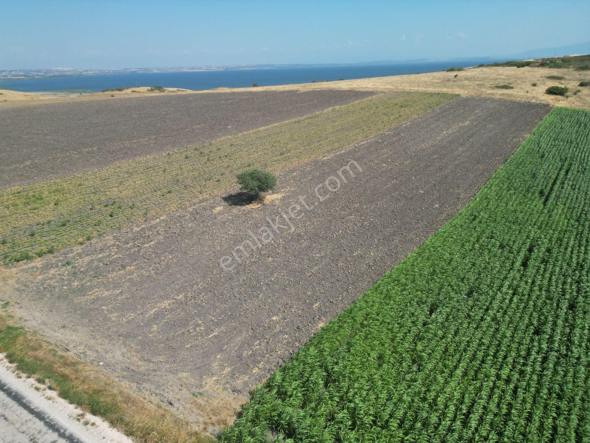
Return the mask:
[[[457,77],[455,78],[455,74]],[[550,80],[547,76],[562,76],[563,80]],[[590,88],[578,87],[581,80],[590,79],[588,71],[550,69],[540,67],[473,67],[463,71],[432,72],[405,76],[372,77],[369,79],[340,80],[338,82],[283,84],[247,88],[218,88],[215,92],[354,89],[378,91],[445,92],[462,96],[493,97],[507,100],[549,103],[568,108],[590,109]],[[531,83],[537,83],[532,86]],[[514,89],[496,89],[494,85],[509,84]],[[567,86],[568,98],[548,95],[549,86]],[[573,95],[576,90],[581,90]],[[199,91],[199,93],[211,91]]]

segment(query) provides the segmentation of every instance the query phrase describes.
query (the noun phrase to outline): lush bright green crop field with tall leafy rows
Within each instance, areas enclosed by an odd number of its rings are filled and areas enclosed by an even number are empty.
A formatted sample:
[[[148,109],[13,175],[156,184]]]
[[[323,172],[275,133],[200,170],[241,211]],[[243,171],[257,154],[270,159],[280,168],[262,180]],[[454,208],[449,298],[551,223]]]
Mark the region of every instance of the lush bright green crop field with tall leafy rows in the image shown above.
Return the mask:
[[[220,441],[590,441],[589,178],[590,112],[554,109]]]

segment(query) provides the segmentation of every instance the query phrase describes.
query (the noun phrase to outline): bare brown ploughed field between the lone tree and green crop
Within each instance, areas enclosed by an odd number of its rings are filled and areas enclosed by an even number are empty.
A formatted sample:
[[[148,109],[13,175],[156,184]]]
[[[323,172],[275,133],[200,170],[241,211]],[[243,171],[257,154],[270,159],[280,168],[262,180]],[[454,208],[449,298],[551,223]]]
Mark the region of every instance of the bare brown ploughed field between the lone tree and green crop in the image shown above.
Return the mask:
[[[2,269],[0,289],[74,355],[205,428],[228,424],[249,389],[470,201],[549,109],[458,98],[280,174],[266,204],[213,198]]]

